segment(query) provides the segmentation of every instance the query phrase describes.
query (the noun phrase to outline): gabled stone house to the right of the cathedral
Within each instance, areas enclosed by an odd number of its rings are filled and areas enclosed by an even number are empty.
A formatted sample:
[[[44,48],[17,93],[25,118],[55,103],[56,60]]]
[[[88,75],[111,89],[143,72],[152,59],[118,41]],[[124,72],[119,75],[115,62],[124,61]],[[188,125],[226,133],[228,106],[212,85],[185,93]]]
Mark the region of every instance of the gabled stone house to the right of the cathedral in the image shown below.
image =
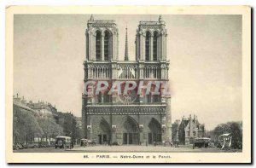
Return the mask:
[[[194,115],[194,119],[189,115],[188,119],[176,120],[172,124],[172,141],[178,141],[180,144],[190,144],[196,137],[206,136],[206,127],[201,125]]]

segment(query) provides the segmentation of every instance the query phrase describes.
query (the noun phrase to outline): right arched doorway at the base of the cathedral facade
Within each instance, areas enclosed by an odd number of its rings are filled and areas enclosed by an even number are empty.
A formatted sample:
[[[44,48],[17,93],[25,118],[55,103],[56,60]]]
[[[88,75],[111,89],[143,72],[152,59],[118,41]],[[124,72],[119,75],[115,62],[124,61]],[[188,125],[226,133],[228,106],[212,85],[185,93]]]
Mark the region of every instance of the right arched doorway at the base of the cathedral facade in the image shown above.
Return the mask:
[[[161,142],[161,126],[160,123],[152,118],[148,124],[148,128],[150,132],[148,132],[148,144],[152,144],[153,142]]]

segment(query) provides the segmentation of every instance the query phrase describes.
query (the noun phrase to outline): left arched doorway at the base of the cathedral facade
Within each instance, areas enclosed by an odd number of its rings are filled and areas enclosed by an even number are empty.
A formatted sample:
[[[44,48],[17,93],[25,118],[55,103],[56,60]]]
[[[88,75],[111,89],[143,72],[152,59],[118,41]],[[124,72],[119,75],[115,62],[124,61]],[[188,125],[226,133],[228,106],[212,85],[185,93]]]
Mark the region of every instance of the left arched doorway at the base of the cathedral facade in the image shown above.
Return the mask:
[[[100,129],[98,131],[98,138],[97,138],[97,143],[98,144],[108,144],[110,142],[110,137],[111,135],[111,130],[110,130],[110,125],[108,122],[102,118],[100,122]]]

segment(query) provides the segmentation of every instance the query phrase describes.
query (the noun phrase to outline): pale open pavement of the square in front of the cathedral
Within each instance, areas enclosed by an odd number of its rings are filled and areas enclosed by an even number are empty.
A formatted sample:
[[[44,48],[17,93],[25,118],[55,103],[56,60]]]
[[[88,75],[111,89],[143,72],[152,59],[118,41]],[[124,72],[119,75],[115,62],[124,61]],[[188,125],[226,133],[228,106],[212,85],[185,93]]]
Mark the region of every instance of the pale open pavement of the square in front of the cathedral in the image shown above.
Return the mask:
[[[181,145],[180,148],[164,147],[164,146],[94,146],[94,147],[79,147],[73,149],[60,149],[60,148],[27,148],[15,150],[15,153],[133,153],[133,152],[162,152],[162,153],[236,153],[241,150],[230,149],[221,150],[219,148],[195,148],[191,145]]]

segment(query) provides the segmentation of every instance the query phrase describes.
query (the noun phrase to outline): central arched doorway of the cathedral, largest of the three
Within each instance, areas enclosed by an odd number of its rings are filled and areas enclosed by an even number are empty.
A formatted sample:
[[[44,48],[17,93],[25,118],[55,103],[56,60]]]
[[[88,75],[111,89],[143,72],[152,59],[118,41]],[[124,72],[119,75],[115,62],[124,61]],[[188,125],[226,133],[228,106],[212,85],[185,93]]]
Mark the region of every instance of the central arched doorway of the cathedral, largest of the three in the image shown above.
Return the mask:
[[[125,117],[123,128],[123,144],[139,144],[139,129],[137,122],[129,116]]]

